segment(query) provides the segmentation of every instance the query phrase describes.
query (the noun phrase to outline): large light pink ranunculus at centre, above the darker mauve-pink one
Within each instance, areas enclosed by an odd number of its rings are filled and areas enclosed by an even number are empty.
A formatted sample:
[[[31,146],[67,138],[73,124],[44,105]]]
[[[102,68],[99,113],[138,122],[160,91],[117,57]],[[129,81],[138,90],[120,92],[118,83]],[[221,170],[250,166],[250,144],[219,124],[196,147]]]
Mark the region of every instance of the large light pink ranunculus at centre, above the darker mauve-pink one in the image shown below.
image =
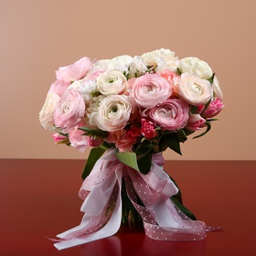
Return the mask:
[[[139,107],[152,109],[172,95],[172,85],[158,74],[145,74],[133,83],[133,99]]]

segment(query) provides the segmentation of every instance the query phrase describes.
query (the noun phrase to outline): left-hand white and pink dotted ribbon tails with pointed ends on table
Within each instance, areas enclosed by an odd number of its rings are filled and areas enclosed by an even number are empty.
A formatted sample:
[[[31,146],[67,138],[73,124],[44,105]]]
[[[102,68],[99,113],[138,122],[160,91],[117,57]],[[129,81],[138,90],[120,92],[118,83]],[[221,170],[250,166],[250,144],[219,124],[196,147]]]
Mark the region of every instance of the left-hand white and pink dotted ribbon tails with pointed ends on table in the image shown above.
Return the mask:
[[[54,244],[58,250],[67,249],[93,240],[101,240],[112,236],[118,231],[122,219],[122,171],[120,172],[120,169],[117,169],[113,176],[114,180],[112,178],[111,182],[106,184],[103,182],[91,190],[81,207],[85,214],[80,225],[58,235],[60,240]],[[97,193],[99,191],[106,191],[104,185],[109,187],[110,184],[113,184],[113,187],[109,193],[106,206],[100,215],[96,215],[95,213],[98,213],[99,209],[94,208],[94,213],[91,212],[91,203],[96,202],[98,206],[102,198],[99,198]],[[110,191],[110,187],[108,191]]]

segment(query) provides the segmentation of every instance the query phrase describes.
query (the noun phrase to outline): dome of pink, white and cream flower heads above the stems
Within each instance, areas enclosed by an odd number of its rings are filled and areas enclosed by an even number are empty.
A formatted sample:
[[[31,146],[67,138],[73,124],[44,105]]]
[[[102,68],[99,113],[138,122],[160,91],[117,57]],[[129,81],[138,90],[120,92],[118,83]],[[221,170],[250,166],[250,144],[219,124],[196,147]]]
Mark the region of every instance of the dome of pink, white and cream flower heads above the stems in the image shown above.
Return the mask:
[[[223,107],[219,80],[207,62],[177,59],[161,48],[133,58],[85,57],[59,68],[39,121],[55,143],[80,152],[102,144],[132,151],[147,140],[157,153],[165,133],[200,130]]]

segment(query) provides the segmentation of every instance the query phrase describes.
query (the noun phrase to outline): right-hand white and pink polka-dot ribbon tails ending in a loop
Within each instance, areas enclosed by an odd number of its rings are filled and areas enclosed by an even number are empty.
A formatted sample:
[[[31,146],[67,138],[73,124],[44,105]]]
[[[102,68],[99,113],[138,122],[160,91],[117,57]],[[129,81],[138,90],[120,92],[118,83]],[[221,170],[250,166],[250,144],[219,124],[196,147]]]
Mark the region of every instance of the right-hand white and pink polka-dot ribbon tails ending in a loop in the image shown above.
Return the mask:
[[[206,224],[191,220],[170,200],[177,188],[165,176],[163,168],[152,165],[151,171],[142,176],[128,169],[127,195],[144,220],[147,237],[155,240],[192,241],[206,238]],[[144,205],[136,202],[137,195]]]

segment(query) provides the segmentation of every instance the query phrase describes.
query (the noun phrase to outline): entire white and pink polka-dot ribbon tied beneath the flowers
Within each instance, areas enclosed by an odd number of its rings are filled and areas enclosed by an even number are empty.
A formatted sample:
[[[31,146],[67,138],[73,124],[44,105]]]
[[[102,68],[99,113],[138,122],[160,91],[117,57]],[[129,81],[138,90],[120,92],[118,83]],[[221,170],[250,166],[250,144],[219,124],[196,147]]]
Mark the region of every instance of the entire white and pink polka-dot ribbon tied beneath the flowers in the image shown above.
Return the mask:
[[[144,221],[147,237],[155,240],[191,241],[206,238],[206,225],[183,214],[170,197],[178,189],[163,170],[162,155],[153,157],[147,175],[123,165],[108,150],[94,165],[80,187],[84,216],[79,226],[58,235],[58,250],[100,240],[115,234],[122,220],[121,188],[124,179],[127,196]],[[137,203],[137,196],[144,206]]]

